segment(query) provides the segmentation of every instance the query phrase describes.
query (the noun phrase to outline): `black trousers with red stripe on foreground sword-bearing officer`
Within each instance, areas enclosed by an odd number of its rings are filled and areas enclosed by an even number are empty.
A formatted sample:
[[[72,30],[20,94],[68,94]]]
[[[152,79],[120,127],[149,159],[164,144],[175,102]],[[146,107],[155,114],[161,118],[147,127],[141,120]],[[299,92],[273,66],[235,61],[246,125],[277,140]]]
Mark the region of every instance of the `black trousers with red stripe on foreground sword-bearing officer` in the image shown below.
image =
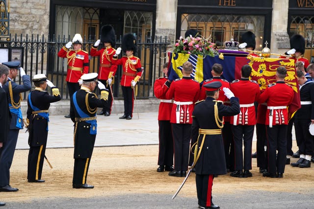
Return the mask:
[[[214,176],[210,175],[197,175],[195,177],[196,181],[196,192],[198,205],[204,208],[210,207],[212,205],[212,195],[211,188]]]

